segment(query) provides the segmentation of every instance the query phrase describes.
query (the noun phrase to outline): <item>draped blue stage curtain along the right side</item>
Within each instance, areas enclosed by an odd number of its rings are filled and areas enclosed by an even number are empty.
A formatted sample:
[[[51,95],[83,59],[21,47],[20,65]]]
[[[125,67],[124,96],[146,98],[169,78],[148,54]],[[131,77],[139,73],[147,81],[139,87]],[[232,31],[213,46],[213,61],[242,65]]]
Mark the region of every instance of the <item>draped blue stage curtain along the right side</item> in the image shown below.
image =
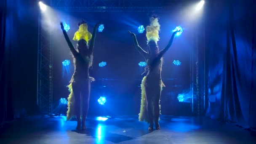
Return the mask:
[[[256,128],[256,0],[216,0],[211,4],[206,26],[206,116]]]

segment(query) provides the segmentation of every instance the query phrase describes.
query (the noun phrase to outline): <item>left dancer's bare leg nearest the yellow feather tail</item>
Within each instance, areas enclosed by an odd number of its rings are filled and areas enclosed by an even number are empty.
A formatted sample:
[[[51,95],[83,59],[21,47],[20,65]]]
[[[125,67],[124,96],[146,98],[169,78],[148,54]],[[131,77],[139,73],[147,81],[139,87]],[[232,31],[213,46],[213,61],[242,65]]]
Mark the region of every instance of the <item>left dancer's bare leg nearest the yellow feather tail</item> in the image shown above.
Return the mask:
[[[81,115],[80,115],[80,92],[81,88],[78,83],[72,83],[72,89],[75,96],[75,112],[77,115],[77,130],[81,129]]]

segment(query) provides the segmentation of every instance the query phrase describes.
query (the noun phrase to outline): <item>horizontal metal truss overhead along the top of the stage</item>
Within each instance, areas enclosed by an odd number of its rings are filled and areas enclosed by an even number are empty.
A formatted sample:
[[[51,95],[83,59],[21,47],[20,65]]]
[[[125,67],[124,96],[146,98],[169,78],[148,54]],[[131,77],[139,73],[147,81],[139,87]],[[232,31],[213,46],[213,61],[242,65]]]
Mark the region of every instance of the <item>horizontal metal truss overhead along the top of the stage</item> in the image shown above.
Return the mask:
[[[163,10],[176,0],[53,0],[53,7],[75,11]]]

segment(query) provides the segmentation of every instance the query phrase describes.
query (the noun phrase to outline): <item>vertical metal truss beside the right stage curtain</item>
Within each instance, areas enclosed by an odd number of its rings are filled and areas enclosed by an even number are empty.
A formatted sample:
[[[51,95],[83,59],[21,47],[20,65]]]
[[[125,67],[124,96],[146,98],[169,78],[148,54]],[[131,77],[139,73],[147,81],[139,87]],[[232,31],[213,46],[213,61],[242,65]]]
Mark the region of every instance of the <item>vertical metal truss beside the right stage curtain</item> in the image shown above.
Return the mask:
[[[202,29],[203,27],[203,29]],[[205,115],[207,93],[206,73],[205,73],[205,23],[201,21],[196,28],[195,45],[191,57],[191,76],[192,76],[192,113],[194,115]],[[200,30],[199,30],[200,29]],[[200,32],[199,32],[200,31]]]

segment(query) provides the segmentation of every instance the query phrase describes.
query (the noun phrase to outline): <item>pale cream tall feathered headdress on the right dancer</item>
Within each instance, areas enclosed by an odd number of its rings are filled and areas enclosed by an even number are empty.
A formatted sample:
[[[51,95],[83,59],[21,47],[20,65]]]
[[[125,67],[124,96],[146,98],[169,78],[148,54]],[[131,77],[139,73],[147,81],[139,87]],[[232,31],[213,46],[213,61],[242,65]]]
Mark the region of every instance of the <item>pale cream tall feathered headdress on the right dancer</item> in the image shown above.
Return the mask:
[[[148,43],[151,40],[155,41],[155,43],[157,43],[157,41],[159,41],[159,39],[160,39],[160,37],[159,37],[160,24],[158,22],[157,17],[150,18],[150,25],[146,27],[146,31],[147,31],[146,36],[147,36]]]

